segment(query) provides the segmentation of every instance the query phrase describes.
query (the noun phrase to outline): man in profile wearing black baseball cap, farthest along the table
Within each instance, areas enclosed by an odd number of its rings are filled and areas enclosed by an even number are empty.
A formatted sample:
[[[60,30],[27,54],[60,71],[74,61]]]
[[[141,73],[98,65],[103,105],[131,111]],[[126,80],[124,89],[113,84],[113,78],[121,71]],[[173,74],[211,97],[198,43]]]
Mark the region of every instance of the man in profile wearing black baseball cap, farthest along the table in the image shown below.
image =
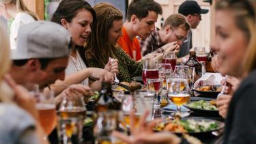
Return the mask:
[[[201,14],[207,14],[209,10],[201,9],[197,1],[184,1],[179,7],[178,12],[186,16],[186,20],[192,29],[196,29],[201,21]],[[188,33],[188,40],[183,42],[180,47],[180,52],[177,57],[184,57],[188,55],[190,48],[192,48],[192,32]]]

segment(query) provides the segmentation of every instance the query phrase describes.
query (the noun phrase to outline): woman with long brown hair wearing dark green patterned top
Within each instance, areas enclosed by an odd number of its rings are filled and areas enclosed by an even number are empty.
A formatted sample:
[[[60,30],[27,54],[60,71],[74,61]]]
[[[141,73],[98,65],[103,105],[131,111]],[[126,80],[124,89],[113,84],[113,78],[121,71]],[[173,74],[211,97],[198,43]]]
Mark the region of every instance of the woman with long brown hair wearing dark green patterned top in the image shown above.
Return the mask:
[[[122,12],[109,3],[98,3],[94,10],[97,18],[85,46],[89,67],[104,68],[109,57],[113,57],[118,60],[119,81],[130,82],[133,76],[141,76],[142,62],[131,59],[117,45],[117,40],[122,35]],[[158,60],[157,58],[154,59]]]

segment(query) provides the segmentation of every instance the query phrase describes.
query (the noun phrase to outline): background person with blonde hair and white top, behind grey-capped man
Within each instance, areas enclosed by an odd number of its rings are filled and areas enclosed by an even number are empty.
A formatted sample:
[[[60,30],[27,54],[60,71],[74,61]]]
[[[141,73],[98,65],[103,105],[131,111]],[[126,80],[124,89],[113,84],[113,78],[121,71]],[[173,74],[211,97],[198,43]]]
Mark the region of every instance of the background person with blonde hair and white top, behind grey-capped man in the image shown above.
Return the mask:
[[[18,29],[38,20],[38,17],[26,7],[23,0],[0,0],[0,14],[8,20],[14,18],[10,28],[10,43],[11,49],[16,49]]]

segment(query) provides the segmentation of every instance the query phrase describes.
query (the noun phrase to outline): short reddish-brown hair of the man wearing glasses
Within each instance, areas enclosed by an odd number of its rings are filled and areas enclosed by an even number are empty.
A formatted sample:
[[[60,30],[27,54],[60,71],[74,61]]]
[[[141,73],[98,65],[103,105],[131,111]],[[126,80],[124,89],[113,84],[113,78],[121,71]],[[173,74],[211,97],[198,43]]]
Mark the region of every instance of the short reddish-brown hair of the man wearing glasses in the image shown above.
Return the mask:
[[[167,27],[167,25],[177,28],[177,27],[182,27],[186,31],[190,30],[190,25],[186,18],[182,14],[171,14],[166,20],[162,28]]]

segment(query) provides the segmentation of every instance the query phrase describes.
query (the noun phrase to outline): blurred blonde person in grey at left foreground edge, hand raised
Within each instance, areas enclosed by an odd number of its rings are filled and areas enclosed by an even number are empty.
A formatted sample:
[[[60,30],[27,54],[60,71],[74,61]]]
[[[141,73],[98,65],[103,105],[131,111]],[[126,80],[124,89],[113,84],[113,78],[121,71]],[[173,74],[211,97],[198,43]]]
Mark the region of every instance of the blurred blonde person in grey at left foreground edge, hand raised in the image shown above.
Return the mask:
[[[6,74],[10,68],[10,47],[1,25],[0,38],[0,143],[48,143],[35,101]]]

